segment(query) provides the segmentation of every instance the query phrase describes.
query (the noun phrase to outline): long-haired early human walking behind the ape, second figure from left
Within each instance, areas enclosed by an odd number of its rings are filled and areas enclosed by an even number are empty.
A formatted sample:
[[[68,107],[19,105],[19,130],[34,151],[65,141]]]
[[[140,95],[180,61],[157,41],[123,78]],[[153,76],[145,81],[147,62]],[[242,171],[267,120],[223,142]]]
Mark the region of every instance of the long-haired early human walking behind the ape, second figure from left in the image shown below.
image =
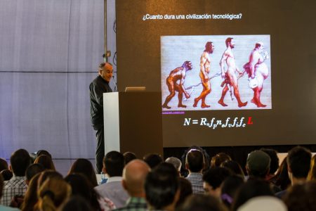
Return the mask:
[[[193,104],[193,107],[197,107],[197,103],[199,103],[199,100],[202,99],[201,108],[209,108],[209,105],[206,105],[205,98],[208,94],[211,93],[211,82],[209,79],[209,72],[211,69],[211,59],[209,58],[209,54],[213,53],[214,46],[213,42],[208,41],[205,45],[205,50],[202,53],[199,67],[199,77],[201,78],[203,90],[201,94],[195,98],[195,103]]]

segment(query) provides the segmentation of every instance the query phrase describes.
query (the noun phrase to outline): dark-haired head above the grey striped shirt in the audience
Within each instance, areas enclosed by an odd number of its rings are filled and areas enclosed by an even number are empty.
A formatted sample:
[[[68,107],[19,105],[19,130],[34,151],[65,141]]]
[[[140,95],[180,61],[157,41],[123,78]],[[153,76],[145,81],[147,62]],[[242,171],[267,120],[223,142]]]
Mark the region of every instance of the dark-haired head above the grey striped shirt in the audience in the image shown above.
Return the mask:
[[[204,167],[204,155],[201,151],[192,149],[187,152],[185,166],[190,172],[200,172]]]

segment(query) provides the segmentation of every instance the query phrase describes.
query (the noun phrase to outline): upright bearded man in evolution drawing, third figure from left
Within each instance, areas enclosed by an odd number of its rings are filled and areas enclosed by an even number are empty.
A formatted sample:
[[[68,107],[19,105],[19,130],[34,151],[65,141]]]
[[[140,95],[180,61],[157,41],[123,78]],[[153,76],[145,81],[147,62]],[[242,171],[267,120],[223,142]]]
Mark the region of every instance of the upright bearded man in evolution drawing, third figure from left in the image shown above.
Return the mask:
[[[238,90],[238,80],[235,75],[235,71],[239,73],[239,75],[242,75],[243,73],[239,71],[239,68],[237,68],[236,63],[235,63],[235,57],[234,54],[232,53],[232,49],[235,47],[234,39],[232,37],[228,37],[225,41],[227,49],[224,51],[222,58],[220,59],[220,70],[222,72],[222,78],[225,79],[225,87],[223,88],[222,91],[222,96],[220,97],[220,100],[218,103],[222,106],[228,106],[224,103],[224,98],[231,86],[234,89],[234,95],[237,99],[238,102],[238,107],[243,107],[246,106],[248,102],[242,103],[239,95],[239,90]],[[224,63],[226,62],[227,64],[227,70],[224,69]]]

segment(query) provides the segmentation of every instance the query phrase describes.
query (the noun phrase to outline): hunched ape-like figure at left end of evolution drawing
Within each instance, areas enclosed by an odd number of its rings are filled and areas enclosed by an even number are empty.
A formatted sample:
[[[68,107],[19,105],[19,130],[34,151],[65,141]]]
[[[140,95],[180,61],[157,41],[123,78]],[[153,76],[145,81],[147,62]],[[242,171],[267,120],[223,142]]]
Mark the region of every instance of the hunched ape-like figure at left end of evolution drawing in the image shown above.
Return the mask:
[[[178,91],[178,108],[186,108],[187,106],[182,104],[183,93],[185,94],[186,98],[189,98],[190,95],[187,94],[183,84],[185,82],[185,75],[188,70],[192,70],[192,63],[190,61],[185,61],[181,67],[178,67],[172,70],[169,74],[169,77],[166,78],[166,85],[169,89],[169,96],[166,96],[166,100],[162,105],[162,108],[170,109],[171,107],[168,106],[169,101],[176,95],[176,91]],[[179,84],[177,81],[180,80]]]

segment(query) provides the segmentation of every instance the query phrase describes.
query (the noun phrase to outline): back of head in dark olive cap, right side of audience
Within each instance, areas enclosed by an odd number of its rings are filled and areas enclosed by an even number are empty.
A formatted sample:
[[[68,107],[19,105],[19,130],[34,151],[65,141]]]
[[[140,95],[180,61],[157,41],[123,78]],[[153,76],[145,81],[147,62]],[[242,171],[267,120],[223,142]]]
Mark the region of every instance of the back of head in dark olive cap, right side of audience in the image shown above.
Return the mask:
[[[270,170],[270,156],[263,151],[252,151],[246,160],[246,170],[250,177],[265,178]]]

